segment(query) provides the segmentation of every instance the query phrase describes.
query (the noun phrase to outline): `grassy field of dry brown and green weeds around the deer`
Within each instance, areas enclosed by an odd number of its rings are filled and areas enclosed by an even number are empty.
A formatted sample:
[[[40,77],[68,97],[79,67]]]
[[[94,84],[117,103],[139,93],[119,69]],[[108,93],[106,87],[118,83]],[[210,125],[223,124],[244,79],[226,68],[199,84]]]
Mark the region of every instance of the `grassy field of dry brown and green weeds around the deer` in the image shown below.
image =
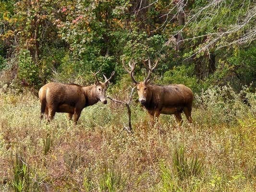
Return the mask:
[[[193,125],[132,106],[98,103],[78,125],[40,122],[39,100],[0,90],[1,192],[255,192],[256,95],[230,87],[195,96]]]

